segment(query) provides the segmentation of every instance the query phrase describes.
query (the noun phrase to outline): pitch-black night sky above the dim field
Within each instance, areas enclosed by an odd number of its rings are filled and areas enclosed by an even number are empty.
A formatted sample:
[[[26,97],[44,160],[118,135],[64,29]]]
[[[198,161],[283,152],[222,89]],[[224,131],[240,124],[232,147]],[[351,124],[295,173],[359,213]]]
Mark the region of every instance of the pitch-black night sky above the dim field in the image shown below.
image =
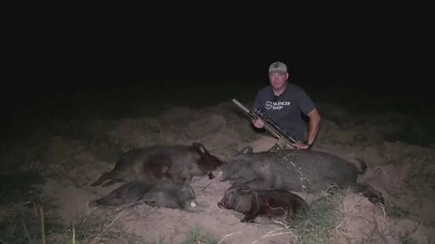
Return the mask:
[[[429,33],[410,13],[284,8],[150,14],[62,11],[15,19],[2,99],[60,91],[219,80],[265,80],[285,61],[299,82],[429,96],[422,70]],[[215,9],[216,10],[216,9]],[[406,10],[404,10],[406,11]],[[416,65],[416,63],[419,63]],[[416,69],[417,68],[417,69]],[[410,85],[410,83],[412,85]]]

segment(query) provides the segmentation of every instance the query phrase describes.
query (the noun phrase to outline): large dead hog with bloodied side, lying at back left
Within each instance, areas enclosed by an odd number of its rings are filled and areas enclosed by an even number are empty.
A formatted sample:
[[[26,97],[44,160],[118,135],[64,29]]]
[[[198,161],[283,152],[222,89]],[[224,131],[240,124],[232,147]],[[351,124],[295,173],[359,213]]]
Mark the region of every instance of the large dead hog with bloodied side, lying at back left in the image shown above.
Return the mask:
[[[153,145],[132,149],[122,154],[114,168],[92,183],[108,186],[115,182],[133,180],[170,179],[176,183],[190,183],[193,176],[208,174],[214,177],[213,171],[224,164],[217,156],[211,155],[199,143],[192,145]],[[108,183],[105,181],[110,180]]]

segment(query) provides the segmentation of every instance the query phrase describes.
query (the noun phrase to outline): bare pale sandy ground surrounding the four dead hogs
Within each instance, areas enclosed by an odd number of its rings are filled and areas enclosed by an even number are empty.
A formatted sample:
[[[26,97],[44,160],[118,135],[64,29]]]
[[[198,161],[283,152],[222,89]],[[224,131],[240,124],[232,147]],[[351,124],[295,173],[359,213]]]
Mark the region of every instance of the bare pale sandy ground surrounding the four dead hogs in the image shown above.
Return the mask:
[[[319,109],[324,120],[313,150],[339,155],[351,163],[355,162],[354,157],[362,157],[369,169],[359,181],[370,183],[386,200],[385,206],[375,206],[362,195],[348,192],[341,204],[341,219],[332,233],[333,239],[338,243],[404,243],[405,240],[433,243],[435,179],[430,175],[434,175],[434,146],[385,142],[382,132],[393,131],[394,124],[371,123],[370,119],[353,117],[331,105],[320,104]],[[382,115],[383,118],[393,116]],[[382,117],[370,116],[372,120],[388,121]],[[121,143],[123,151],[145,145],[189,145],[198,141],[210,153],[228,160],[260,136],[232,103],[197,110],[171,108],[157,117],[111,122],[114,127],[107,133]],[[133,233],[147,243],[180,243],[192,230],[221,243],[298,243],[297,237],[279,223],[264,218],[257,218],[255,223],[242,223],[241,213],[219,209],[217,203],[228,183],[208,180],[207,176],[194,178],[192,186],[198,206],[192,212],[147,205],[90,208],[90,201],[120,185],[90,186],[102,172],[111,170],[115,158],[102,160],[89,147],[62,137],[51,139],[44,158],[50,162],[47,169],[50,176],[43,186],[43,194],[54,206],[47,214],[58,216],[68,224],[93,223],[88,228],[95,228],[98,235],[86,239],[86,243],[123,243],[106,235],[111,230]],[[311,201],[303,192],[295,193]],[[407,214],[392,218],[385,214],[389,208]]]

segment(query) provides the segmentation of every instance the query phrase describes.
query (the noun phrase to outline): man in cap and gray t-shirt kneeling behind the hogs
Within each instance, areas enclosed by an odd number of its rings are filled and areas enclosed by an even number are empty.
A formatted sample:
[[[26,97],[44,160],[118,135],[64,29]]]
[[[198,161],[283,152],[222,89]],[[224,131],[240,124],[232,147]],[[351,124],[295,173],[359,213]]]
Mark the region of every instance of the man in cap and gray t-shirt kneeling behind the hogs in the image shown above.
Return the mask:
[[[287,66],[275,61],[269,66],[270,85],[258,90],[254,101],[254,110],[261,109],[266,117],[272,119],[278,127],[295,138],[297,149],[309,149],[319,131],[320,115],[314,102],[303,89],[288,81]],[[308,131],[301,116],[309,118]],[[264,121],[257,117],[252,120],[254,127],[264,127]],[[263,136],[252,145],[254,151],[266,151],[275,145],[275,138]]]

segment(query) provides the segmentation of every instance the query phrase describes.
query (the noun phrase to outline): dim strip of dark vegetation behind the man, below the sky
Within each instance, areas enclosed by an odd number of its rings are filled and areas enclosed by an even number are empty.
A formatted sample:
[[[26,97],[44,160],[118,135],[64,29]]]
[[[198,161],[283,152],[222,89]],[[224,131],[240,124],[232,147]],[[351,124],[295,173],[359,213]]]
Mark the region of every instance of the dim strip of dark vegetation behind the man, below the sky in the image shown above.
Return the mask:
[[[173,106],[203,108],[231,99],[249,103],[254,99],[256,90],[265,84],[265,81],[179,81],[170,84],[160,81],[93,89],[63,89],[63,92],[41,96],[14,108],[10,119],[2,121],[2,137],[19,140],[35,131],[44,130],[59,136],[83,138],[95,129],[92,121],[147,117]],[[435,104],[424,93],[411,94],[406,89],[391,91],[363,86],[318,85],[306,81],[296,84],[303,87],[314,102],[331,103],[345,108],[351,114],[401,115],[400,121],[378,121],[401,127],[400,131],[385,135],[387,140],[401,140],[415,145],[434,143],[435,127],[432,125],[435,124]]]

